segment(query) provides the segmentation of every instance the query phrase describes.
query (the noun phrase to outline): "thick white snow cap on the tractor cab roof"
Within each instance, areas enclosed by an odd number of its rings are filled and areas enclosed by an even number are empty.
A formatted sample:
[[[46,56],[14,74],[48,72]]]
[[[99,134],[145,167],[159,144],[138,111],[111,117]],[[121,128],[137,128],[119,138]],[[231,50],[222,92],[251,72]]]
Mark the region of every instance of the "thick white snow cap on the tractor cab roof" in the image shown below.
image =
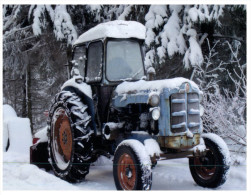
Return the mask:
[[[146,28],[143,24],[135,21],[115,20],[91,28],[83,33],[74,45],[105,37],[145,39],[145,36]]]

